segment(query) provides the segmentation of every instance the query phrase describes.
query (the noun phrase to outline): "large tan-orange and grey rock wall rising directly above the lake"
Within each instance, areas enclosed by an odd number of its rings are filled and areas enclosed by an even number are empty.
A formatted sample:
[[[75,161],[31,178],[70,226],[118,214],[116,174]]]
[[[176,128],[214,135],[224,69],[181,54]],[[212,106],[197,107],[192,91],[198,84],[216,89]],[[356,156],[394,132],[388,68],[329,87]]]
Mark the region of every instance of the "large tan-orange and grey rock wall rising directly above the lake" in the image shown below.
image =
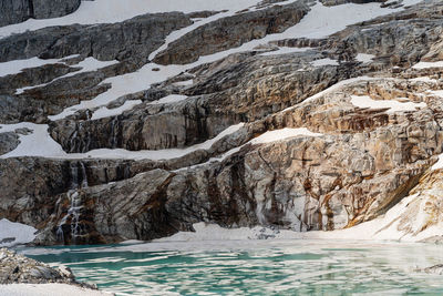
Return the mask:
[[[63,193],[54,198],[56,215],[48,220],[38,243],[152,239],[192,229],[193,223],[202,221],[225,227],[260,224],[331,231],[377,217],[409,194],[443,144],[441,119],[435,116],[441,108],[396,114],[350,103],[350,94],[392,100],[426,89],[411,88],[405,81],[392,83],[354,83],[248,127],[248,139],[302,126],[323,135],[248,144],[222,163],[157,169]],[[383,92],[387,89],[398,91]],[[434,100],[431,96],[426,103],[435,105]],[[70,231],[73,198],[83,205],[76,233]],[[56,235],[60,227],[63,241]]]

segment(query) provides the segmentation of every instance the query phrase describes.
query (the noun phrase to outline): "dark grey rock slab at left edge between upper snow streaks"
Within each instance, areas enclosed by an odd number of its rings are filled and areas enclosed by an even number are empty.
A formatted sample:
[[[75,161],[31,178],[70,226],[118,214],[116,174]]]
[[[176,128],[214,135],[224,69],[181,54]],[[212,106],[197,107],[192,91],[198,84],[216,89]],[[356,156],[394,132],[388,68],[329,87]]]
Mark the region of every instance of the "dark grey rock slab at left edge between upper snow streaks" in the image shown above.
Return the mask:
[[[0,112],[0,123],[48,122],[48,115],[59,114],[68,106],[92,100],[107,91],[111,84],[102,83],[106,78],[135,71],[138,67],[132,62],[121,62],[97,71],[75,74],[73,71],[79,69],[75,64],[70,68],[52,64],[25,69],[19,74],[0,78],[0,85],[4,82],[4,89],[0,89],[0,93],[6,93],[0,94],[0,106],[4,111]],[[41,71],[48,76],[39,76]],[[71,76],[60,78],[63,73],[71,73]],[[52,81],[54,75],[56,79]],[[28,82],[31,85],[48,84],[14,94],[18,86],[29,85]]]

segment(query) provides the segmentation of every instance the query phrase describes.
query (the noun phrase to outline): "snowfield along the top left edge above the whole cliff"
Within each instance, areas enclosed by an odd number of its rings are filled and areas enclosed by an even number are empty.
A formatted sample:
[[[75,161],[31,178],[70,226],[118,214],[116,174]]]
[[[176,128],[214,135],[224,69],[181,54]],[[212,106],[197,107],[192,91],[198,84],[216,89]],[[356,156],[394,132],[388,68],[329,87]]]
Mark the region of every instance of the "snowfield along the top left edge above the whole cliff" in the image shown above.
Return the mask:
[[[240,11],[257,4],[261,0],[95,0],[82,1],[80,8],[65,17],[55,19],[30,19],[22,23],[0,28],[0,38],[27,30],[38,30],[52,25],[113,23],[132,19],[136,16],[156,12],[182,11]]]

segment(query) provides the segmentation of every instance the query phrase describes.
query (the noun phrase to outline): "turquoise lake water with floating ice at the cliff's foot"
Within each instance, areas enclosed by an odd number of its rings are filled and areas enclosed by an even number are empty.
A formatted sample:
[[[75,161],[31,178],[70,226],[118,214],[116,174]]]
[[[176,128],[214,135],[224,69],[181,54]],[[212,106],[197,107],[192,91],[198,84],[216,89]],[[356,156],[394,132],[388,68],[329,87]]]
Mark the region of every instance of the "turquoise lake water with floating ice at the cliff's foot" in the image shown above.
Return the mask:
[[[229,241],[27,248],[116,295],[443,295],[443,246]]]

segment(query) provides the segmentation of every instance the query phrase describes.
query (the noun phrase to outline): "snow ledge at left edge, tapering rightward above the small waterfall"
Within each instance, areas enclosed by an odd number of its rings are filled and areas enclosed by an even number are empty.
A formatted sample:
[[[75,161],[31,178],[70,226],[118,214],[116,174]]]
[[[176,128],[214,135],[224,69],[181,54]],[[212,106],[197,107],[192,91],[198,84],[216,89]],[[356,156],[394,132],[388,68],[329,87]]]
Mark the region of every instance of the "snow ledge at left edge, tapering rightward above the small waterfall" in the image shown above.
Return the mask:
[[[231,125],[219,133],[217,136],[207,140],[204,143],[196,144],[186,149],[166,149],[166,150],[142,150],[142,151],[127,151],[124,149],[99,149],[92,150],[86,153],[72,153],[69,154],[63,151],[61,145],[56,143],[48,133],[47,124],[34,124],[34,123],[19,123],[4,125],[1,124],[0,133],[11,132],[16,129],[27,127],[33,131],[29,135],[20,135],[19,146],[3,155],[0,159],[19,157],[19,156],[41,156],[51,159],[123,159],[123,160],[171,160],[181,157],[197,150],[209,150],[213,144],[222,140],[226,135],[237,132],[244,126],[244,123]],[[38,143],[38,144],[37,144]]]

